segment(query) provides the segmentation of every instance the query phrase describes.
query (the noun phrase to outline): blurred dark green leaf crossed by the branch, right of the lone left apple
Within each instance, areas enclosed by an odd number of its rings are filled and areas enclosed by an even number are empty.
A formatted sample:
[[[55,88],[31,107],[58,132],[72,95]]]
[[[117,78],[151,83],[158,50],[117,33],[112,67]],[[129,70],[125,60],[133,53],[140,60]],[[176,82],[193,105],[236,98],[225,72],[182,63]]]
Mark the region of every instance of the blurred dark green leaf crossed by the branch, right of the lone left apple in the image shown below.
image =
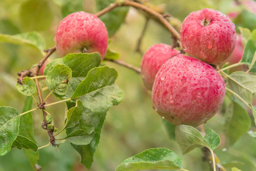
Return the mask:
[[[103,10],[113,2],[115,2],[115,0],[96,0],[97,10]],[[101,21],[103,21],[107,27],[109,37],[115,34],[123,24],[128,10],[129,7],[116,8],[100,17]]]

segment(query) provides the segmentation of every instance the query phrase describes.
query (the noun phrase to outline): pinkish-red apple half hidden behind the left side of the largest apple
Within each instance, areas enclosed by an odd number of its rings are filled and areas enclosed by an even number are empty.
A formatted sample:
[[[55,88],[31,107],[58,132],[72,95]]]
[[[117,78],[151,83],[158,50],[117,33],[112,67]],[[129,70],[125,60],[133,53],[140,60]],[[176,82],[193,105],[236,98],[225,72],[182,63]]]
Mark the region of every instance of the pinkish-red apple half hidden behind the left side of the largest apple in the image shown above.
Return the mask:
[[[162,64],[179,52],[176,49],[172,49],[172,46],[164,43],[155,44],[148,48],[141,60],[141,77],[147,89],[152,90],[156,74]]]

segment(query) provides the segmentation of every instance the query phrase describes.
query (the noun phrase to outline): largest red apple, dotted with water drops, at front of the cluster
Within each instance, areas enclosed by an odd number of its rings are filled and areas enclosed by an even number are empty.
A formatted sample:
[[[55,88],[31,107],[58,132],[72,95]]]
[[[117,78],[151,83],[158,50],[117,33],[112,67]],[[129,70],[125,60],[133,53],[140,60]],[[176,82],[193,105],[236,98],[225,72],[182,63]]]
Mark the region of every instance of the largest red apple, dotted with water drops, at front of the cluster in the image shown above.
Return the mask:
[[[152,89],[153,109],[175,125],[197,127],[220,109],[224,79],[202,60],[179,54],[157,72]]]

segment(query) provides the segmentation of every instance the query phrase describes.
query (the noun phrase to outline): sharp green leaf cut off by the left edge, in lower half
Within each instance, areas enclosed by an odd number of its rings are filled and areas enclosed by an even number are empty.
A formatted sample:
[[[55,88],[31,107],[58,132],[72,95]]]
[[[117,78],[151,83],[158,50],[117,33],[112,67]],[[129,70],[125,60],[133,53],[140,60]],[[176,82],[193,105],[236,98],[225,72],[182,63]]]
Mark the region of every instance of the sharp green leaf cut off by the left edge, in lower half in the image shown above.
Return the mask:
[[[19,133],[19,113],[12,107],[0,107],[0,156],[10,152]]]

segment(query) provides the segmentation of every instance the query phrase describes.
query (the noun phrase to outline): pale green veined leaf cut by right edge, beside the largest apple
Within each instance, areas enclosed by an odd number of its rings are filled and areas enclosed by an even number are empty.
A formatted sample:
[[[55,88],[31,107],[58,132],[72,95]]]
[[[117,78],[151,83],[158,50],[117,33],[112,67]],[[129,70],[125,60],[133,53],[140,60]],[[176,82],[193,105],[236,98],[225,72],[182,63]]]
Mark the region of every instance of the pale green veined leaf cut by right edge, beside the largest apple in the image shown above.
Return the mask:
[[[228,79],[229,87],[247,103],[253,100],[253,93],[256,92],[256,76],[246,74],[242,71],[233,72]]]

